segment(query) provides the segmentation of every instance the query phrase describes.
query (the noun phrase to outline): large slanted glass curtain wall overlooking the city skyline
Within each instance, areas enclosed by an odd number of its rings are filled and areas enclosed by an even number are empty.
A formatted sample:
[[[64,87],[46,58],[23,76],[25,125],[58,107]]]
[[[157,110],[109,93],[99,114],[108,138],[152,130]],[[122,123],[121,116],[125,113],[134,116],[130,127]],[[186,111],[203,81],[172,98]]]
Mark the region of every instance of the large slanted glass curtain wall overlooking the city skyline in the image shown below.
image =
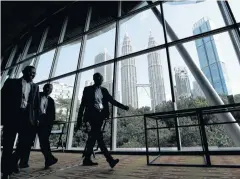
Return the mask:
[[[56,120],[67,122],[63,137],[67,149],[84,147],[86,133],[73,129],[83,89],[93,84],[95,72],[103,75],[103,87],[117,101],[130,106],[126,112],[109,105],[111,119],[104,138],[112,150],[145,148],[145,113],[240,103],[240,49],[236,46],[240,44],[240,12],[235,8],[240,1],[112,4],[111,11],[100,13],[100,19],[97,5],[55,15],[56,25],[23,38],[6,55],[5,78],[21,77],[25,66],[34,65],[34,81],[41,87],[53,84]],[[220,102],[214,103],[209,96]],[[221,120],[207,117],[209,122]],[[240,120],[239,115],[230,117]],[[178,120],[181,125],[196,122],[190,117]],[[160,125],[174,124],[169,120]],[[234,147],[224,125],[206,131],[210,147]],[[197,127],[180,128],[179,134],[182,148],[201,148]],[[150,136],[154,148],[156,134]],[[53,147],[56,140],[51,136]],[[160,131],[159,142],[166,150],[177,150],[176,131]]]

